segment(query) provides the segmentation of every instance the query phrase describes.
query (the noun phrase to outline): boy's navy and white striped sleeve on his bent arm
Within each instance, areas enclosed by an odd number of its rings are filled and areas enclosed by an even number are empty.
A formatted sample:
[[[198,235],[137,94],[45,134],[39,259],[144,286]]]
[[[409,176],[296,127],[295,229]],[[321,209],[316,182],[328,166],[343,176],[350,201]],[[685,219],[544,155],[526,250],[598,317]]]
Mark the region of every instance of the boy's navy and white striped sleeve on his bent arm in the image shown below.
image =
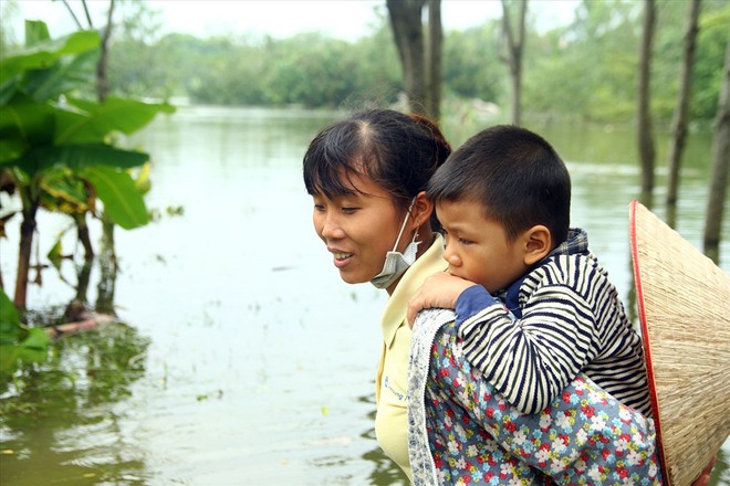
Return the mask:
[[[494,302],[459,326],[467,359],[522,413],[548,406],[595,358],[601,337],[581,288],[585,271],[548,266],[539,281],[525,279],[532,288],[520,318]]]

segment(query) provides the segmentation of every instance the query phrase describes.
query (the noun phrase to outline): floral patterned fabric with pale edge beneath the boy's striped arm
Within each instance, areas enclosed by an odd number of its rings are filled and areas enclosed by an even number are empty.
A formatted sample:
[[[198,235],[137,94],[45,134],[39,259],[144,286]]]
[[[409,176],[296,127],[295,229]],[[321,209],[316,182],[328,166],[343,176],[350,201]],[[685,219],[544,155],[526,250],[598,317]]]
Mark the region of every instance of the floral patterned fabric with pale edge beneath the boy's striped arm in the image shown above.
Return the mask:
[[[453,313],[414,326],[408,448],[416,485],[660,485],[654,422],[578,376],[520,414],[465,359]]]

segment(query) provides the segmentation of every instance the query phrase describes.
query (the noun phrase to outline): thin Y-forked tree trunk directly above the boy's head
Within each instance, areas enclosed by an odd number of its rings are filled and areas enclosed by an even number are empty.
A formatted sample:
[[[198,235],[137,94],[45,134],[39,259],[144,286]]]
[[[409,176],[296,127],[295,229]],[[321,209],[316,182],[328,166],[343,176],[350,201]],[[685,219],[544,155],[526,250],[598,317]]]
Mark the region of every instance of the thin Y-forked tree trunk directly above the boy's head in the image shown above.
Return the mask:
[[[507,57],[503,60],[510,71],[510,120],[513,125],[522,124],[522,52],[524,47],[524,21],[528,13],[528,0],[520,1],[517,32],[510,21],[507,0],[502,0],[502,30],[507,40]]]

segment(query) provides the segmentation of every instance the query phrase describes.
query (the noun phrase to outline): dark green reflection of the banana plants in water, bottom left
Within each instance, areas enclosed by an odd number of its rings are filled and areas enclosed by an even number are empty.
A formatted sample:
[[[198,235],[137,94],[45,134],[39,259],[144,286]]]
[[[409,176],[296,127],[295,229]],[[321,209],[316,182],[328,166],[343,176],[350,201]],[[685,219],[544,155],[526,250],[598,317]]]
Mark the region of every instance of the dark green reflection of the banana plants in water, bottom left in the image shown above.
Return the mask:
[[[148,339],[124,324],[56,341],[49,359],[0,384],[2,484],[145,484],[124,406]]]

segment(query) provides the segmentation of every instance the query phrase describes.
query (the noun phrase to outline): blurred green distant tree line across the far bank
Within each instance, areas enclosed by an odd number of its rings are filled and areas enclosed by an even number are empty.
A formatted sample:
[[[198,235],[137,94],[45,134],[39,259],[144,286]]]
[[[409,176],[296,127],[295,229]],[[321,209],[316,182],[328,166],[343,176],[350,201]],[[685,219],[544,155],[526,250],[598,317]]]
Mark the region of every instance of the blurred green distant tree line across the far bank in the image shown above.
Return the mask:
[[[660,1],[653,65],[653,112],[668,124],[678,89],[686,8]],[[445,4],[448,9],[448,3]],[[154,39],[154,12],[127,18],[111,46],[109,86],[125,96],[189,96],[192,103],[342,107],[368,101],[394,103],[403,75],[387,17],[355,42],[319,33],[288,39],[173,33]],[[479,98],[507,109],[509,77],[500,61],[500,20],[447,31],[445,98]],[[635,116],[640,4],[585,1],[575,21],[540,32],[528,19],[524,50],[525,113],[628,122]],[[730,4],[707,1],[699,19],[689,118],[716,114]]]

